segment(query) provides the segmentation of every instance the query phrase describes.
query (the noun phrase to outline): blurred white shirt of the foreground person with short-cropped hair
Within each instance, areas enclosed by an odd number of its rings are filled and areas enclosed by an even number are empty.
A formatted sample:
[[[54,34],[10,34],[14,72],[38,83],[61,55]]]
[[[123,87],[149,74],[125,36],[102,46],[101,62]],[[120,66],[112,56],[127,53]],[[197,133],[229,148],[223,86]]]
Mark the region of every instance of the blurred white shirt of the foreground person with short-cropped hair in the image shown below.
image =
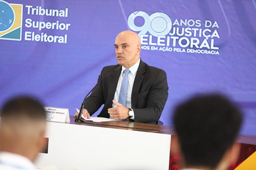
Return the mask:
[[[10,152],[0,152],[0,169],[3,170],[36,170],[27,157]]]

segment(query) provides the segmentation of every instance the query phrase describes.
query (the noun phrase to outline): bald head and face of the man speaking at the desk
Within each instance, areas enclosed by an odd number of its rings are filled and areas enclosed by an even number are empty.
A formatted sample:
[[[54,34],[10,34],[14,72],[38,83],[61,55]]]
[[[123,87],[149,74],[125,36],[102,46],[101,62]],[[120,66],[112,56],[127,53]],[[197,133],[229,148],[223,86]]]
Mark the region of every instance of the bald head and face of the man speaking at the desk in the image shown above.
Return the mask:
[[[115,50],[118,64],[126,69],[133,66],[140,58],[140,45],[134,34],[118,34],[115,40]]]

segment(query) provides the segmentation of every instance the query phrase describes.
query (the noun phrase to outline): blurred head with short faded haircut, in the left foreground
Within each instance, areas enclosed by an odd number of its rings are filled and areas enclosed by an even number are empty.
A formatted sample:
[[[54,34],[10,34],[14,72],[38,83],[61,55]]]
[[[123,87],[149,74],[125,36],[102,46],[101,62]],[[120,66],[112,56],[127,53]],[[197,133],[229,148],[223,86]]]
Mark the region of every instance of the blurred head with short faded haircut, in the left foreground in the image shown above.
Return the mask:
[[[34,162],[45,149],[45,109],[29,97],[7,101],[1,110],[0,153],[21,155]]]

